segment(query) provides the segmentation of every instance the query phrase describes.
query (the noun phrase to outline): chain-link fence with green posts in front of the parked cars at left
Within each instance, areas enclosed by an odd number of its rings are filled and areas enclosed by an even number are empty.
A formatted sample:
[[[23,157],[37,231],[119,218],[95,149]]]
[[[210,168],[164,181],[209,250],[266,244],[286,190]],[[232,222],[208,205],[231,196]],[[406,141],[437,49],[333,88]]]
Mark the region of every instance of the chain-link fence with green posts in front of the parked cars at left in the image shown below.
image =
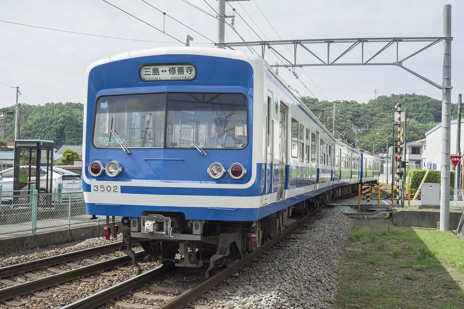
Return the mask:
[[[105,216],[86,213],[80,192],[38,194],[38,190],[0,197],[0,234],[35,231],[40,228],[68,226],[105,220]]]

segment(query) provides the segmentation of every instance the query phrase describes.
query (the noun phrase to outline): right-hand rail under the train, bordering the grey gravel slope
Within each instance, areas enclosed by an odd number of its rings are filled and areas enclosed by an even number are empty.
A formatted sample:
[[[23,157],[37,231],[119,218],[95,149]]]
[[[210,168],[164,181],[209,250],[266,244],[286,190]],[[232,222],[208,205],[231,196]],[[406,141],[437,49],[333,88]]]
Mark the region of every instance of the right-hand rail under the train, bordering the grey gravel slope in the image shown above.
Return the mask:
[[[285,236],[289,235],[293,232],[297,227],[299,227],[303,222],[307,221],[313,215],[319,213],[323,207],[320,207],[309,214],[305,215],[300,220],[296,221],[290,227],[287,227],[282,234],[276,237],[275,240],[271,240],[270,242],[260,246],[257,251],[251,252],[250,254],[246,255],[245,258],[238,260],[232,265],[223,271],[218,272],[213,277],[210,277],[200,284],[195,285],[193,288],[183,292],[176,298],[168,301],[167,303],[161,305],[158,309],[183,309],[189,303],[192,303],[196,300],[199,296],[205,294],[207,291],[211,290],[214,286],[220,284],[222,281],[227,279],[228,277],[232,276],[233,273],[237,272],[240,268],[245,266],[246,264],[250,263],[253,259],[256,259],[266,250],[268,250],[271,246],[275,245],[278,241],[282,240]]]

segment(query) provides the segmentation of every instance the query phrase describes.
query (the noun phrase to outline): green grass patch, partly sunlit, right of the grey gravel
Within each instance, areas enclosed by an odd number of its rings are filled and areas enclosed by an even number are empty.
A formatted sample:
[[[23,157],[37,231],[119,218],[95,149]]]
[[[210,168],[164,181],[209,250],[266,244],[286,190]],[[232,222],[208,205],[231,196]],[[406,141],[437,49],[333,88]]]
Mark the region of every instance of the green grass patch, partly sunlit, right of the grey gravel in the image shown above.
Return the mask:
[[[331,307],[464,308],[464,243],[387,220],[353,221],[347,248],[356,250],[346,252]]]

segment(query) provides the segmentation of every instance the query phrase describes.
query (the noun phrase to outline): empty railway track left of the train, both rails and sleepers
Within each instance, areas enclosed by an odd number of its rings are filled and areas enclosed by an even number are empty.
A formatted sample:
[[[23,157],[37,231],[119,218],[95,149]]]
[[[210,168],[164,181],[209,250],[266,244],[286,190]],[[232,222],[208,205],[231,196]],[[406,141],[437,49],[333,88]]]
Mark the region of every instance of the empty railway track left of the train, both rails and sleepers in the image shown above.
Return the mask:
[[[26,271],[35,271],[47,266],[58,265],[60,263],[73,261],[85,257],[90,257],[102,253],[108,253],[119,249],[121,242],[116,242],[108,245],[92,247],[88,249],[78,250],[76,252],[69,252],[60,254],[45,259],[38,259],[18,265],[11,265],[0,268],[0,277],[11,277],[15,275],[21,275]],[[137,259],[145,257],[145,252],[136,252]],[[93,273],[107,270],[113,267],[125,265],[131,262],[131,259],[125,254],[121,253],[119,257],[109,257],[104,261],[97,261],[95,259],[85,259],[86,263],[90,265],[77,265],[73,263],[65,264],[68,268],[73,268],[68,271],[60,270],[58,268],[48,268],[47,271],[54,273],[50,276],[40,276],[36,274],[26,274],[31,281],[16,282],[9,279],[2,279],[2,284],[10,285],[6,288],[0,289],[0,300],[8,300],[16,296],[25,295],[37,290],[42,290],[53,285],[62,284],[80,277],[88,276]],[[106,257],[105,257],[106,259]]]

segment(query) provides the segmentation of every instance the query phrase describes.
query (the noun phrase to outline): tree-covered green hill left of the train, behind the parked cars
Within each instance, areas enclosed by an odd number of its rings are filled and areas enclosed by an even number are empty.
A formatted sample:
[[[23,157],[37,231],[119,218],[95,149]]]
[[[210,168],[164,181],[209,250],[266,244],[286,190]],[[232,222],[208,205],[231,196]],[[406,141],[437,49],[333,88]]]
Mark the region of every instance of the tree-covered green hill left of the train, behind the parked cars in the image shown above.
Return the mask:
[[[55,148],[82,144],[84,105],[81,103],[20,104],[20,138],[49,139]],[[14,106],[0,108],[0,112],[14,112]],[[14,140],[14,113],[5,115],[5,140]]]

